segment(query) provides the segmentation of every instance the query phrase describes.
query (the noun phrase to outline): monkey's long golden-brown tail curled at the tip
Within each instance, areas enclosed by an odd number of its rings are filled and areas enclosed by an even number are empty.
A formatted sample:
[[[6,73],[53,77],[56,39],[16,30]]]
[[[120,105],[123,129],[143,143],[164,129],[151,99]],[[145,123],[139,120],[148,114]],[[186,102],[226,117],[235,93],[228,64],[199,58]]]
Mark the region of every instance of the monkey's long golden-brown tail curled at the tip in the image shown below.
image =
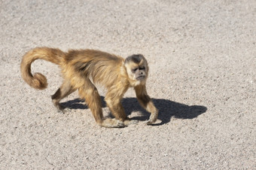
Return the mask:
[[[20,70],[23,79],[29,86],[34,87],[38,90],[43,90],[47,87],[47,79],[41,73],[35,73],[32,75],[31,73],[31,64],[35,61],[35,59],[44,59],[48,62],[53,62],[56,65],[60,65],[64,62],[66,53],[62,52],[62,50],[48,48],[48,47],[37,47],[33,50],[30,50],[23,56],[21,61]]]

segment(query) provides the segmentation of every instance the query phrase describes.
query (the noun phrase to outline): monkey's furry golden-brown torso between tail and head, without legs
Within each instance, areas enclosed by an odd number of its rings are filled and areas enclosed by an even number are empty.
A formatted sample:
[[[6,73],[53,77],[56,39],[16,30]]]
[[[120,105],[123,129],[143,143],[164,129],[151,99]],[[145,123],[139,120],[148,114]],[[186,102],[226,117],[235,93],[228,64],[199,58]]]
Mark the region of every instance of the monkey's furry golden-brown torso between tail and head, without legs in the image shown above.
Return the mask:
[[[69,50],[65,56],[66,63],[62,72],[72,80],[72,84],[80,86],[85,79],[93,80],[105,87],[111,87],[119,79],[123,58],[99,50]]]

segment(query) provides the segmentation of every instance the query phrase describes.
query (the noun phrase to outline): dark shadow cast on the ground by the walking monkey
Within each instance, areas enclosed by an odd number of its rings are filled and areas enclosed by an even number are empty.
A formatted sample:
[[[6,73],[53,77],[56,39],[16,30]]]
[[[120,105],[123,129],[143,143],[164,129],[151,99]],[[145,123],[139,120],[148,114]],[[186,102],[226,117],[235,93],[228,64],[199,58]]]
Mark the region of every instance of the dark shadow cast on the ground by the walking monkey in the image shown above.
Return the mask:
[[[104,97],[101,96],[101,98],[102,108],[105,108],[106,103],[104,101]],[[152,101],[159,111],[158,119],[161,120],[161,123],[153,124],[153,126],[169,123],[172,117],[178,119],[193,119],[207,111],[207,108],[202,105],[189,106],[166,99],[152,99]],[[62,105],[64,105],[66,108],[72,109],[87,109],[87,105],[84,105],[83,102],[84,100],[74,99],[68,102],[62,102]],[[138,117],[132,117],[132,120],[148,120],[150,114],[139,105],[136,98],[124,98],[122,104],[127,115],[131,114],[133,111],[139,111],[141,113],[141,115]]]

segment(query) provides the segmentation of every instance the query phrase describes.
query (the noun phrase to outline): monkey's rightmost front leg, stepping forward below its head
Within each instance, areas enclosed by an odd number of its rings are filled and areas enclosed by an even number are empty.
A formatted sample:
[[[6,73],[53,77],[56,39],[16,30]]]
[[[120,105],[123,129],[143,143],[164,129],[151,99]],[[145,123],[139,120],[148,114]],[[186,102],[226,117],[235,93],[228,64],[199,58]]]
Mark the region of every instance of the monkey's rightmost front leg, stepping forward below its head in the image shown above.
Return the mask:
[[[136,91],[136,96],[139,103],[142,105],[143,108],[145,108],[146,111],[151,113],[151,117],[149,117],[147,124],[150,125],[154,123],[155,121],[157,121],[158,111],[157,108],[154,106],[151,98],[148,96],[145,85],[139,85],[137,87],[134,87],[134,89]]]

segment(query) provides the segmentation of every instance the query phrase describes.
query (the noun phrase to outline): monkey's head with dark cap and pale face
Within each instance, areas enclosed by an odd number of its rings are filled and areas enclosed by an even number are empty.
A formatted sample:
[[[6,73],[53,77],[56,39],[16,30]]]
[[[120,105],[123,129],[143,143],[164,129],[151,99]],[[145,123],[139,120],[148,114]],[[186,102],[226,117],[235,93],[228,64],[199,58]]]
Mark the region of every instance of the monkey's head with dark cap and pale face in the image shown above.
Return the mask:
[[[124,61],[126,72],[133,87],[145,84],[148,77],[148,62],[142,54],[133,54]]]

